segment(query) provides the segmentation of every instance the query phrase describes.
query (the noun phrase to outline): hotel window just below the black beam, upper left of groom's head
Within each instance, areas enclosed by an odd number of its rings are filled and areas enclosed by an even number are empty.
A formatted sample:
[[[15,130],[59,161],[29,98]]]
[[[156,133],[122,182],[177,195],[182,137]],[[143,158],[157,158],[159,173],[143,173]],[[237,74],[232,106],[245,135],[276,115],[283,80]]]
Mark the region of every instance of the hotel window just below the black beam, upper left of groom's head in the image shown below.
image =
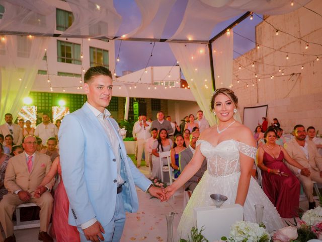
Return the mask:
[[[81,45],[57,40],[57,62],[81,65]]]

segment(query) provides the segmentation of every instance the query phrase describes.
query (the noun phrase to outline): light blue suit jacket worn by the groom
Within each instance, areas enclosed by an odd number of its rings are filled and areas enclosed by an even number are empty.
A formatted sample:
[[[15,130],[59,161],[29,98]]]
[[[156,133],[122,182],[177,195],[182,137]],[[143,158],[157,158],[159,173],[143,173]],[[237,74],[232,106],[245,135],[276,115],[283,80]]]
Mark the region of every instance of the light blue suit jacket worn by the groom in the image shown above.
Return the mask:
[[[96,217],[107,225],[114,215],[117,195],[116,157],[111,142],[119,142],[121,176],[126,181],[122,196],[125,210],[136,212],[138,199],[135,185],[147,189],[147,179],[126,155],[125,146],[113,118],[108,118],[118,140],[110,140],[93,111],[84,104],[66,115],[59,137],[62,179],[69,199],[68,223],[74,226]]]

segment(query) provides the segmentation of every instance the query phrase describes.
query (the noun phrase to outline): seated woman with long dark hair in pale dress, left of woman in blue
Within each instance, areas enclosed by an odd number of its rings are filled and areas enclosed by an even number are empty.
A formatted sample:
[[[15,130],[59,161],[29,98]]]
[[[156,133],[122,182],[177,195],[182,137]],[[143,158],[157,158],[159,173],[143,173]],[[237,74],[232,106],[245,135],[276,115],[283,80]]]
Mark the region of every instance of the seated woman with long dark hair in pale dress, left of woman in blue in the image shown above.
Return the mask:
[[[161,177],[160,170],[160,160],[159,160],[159,153],[170,151],[173,146],[172,140],[169,139],[168,132],[166,129],[160,129],[159,134],[156,138],[156,141],[153,142],[152,146],[152,176],[153,177]],[[163,165],[168,164],[167,158],[162,158],[161,161]]]

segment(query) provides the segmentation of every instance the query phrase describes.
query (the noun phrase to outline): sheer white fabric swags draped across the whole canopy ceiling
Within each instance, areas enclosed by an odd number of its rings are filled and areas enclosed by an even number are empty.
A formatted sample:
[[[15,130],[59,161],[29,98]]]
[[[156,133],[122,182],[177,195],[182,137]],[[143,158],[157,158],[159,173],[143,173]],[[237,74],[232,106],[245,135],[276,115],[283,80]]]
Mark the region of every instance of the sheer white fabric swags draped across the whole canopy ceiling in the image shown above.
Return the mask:
[[[141,13],[139,27],[132,26],[127,33],[119,30],[121,16],[113,6],[113,0],[66,0],[73,16],[73,24],[64,31],[64,37],[116,37],[122,32],[127,37],[163,38],[165,26],[178,0],[135,0]],[[310,0],[188,0],[183,19],[176,33],[170,39],[208,41],[219,22],[238,16],[247,11],[258,14],[278,15],[292,12]],[[48,0],[0,0],[5,14],[0,31],[54,34],[56,6]],[[123,25],[124,26],[124,25]]]

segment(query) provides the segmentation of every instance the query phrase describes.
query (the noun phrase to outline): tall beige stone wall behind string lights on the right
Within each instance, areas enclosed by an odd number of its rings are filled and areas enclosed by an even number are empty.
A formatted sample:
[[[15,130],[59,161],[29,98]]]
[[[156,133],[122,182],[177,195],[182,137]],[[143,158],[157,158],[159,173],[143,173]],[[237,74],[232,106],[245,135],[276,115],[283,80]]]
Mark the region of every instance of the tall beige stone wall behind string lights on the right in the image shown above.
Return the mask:
[[[319,0],[313,0],[306,7],[322,13]],[[304,8],[285,15],[269,16],[266,21],[305,41],[322,43],[321,17]],[[322,46],[309,44],[305,49],[306,42],[281,31],[276,35],[276,31],[265,22],[256,27],[256,42],[260,44],[259,49],[254,48],[234,59],[232,89],[238,96],[241,115],[244,107],[268,104],[269,123],[274,117],[278,118],[281,128],[287,133],[296,124],[322,130],[322,59],[316,61],[317,57],[322,58]],[[253,60],[255,67],[252,67]],[[242,66],[240,70],[239,65]],[[260,81],[255,78],[255,73]],[[271,75],[274,75],[273,79]]]

